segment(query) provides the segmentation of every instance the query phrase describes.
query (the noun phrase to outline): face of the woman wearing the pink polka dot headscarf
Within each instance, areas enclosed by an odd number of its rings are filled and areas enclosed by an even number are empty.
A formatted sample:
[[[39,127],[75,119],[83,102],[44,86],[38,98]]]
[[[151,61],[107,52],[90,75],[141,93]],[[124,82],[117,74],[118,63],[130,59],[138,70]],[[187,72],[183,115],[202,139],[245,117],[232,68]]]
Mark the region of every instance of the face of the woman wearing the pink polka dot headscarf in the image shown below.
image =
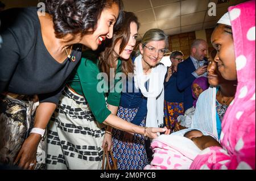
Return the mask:
[[[229,81],[237,79],[236,57],[234,53],[234,41],[232,30],[220,24],[212,34],[212,45],[217,50],[215,60],[218,71],[223,78]]]

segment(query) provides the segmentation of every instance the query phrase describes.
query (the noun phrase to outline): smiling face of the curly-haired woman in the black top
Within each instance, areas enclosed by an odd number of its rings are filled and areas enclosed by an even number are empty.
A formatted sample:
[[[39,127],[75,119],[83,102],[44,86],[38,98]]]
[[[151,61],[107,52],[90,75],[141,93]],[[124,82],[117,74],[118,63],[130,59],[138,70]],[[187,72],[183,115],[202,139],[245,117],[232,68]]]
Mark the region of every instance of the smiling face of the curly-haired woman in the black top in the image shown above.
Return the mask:
[[[83,35],[80,43],[92,50],[96,50],[106,38],[112,39],[113,27],[117,20],[118,13],[119,7],[116,3],[113,3],[110,8],[105,8],[98,19],[96,30]]]

